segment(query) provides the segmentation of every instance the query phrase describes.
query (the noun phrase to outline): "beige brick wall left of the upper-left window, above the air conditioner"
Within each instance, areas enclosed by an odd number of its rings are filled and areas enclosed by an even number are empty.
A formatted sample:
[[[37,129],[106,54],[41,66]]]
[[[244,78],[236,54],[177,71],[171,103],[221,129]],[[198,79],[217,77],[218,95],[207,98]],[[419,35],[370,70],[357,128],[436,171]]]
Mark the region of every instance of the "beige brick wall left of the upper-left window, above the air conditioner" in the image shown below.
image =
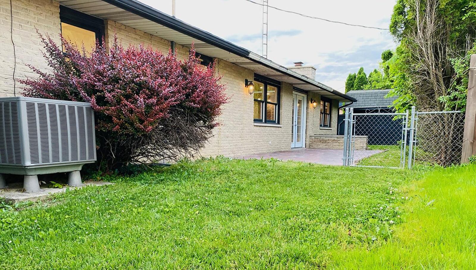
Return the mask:
[[[60,43],[60,5],[52,0],[12,0],[13,41],[16,51],[15,78],[36,76],[26,64],[48,70],[35,27]],[[13,45],[10,40],[10,0],[0,0],[0,97],[13,96]],[[21,92],[17,82],[16,92]]]

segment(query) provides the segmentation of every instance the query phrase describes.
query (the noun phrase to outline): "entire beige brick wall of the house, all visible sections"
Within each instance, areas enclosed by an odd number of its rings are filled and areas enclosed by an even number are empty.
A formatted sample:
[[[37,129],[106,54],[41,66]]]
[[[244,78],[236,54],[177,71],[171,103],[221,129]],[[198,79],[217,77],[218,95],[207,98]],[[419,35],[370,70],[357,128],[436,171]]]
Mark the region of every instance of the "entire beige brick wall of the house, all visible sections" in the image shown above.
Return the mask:
[[[13,49],[10,42],[10,2],[0,0],[1,3],[1,49],[0,60],[0,96],[13,93]],[[48,67],[43,60],[42,45],[36,34],[35,27],[41,33],[50,33],[60,43],[60,14],[58,2],[52,0],[13,0],[13,32],[17,47],[17,78],[34,76],[34,73],[25,66],[30,63],[42,70]],[[29,18],[29,19],[24,19]],[[110,46],[114,34],[124,46],[144,44],[167,53],[170,41],[147,34],[140,30],[124,26],[120,23],[105,20],[105,39]],[[178,57],[185,58],[188,48],[177,44]],[[214,130],[214,136],[207,146],[201,150],[203,156],[225,155],[240,157],[248,154],[269,151],[289,150],[291,146],[291,109],[292,86],[288,83],[281,85],[280,127],[257,126],[253,122],[253,96],[248,94],[244,87],[245,79],[253,80],[254,72],[237,66],[225,60],[218,59],[217,73],[226,84],[226,93],[229,103],[225,104],[219,117],[221,125]],[[18,84],[17,84],[18,85]],[[333,103],[332,130],[319,129],[319,107],[309,107],[310,98],[320,102],[317,94],[309,93],[307,97],[307,140],[313,134],[335,134],[337,123],[337,106]],[[307,142],[309,144],[309,142]]]

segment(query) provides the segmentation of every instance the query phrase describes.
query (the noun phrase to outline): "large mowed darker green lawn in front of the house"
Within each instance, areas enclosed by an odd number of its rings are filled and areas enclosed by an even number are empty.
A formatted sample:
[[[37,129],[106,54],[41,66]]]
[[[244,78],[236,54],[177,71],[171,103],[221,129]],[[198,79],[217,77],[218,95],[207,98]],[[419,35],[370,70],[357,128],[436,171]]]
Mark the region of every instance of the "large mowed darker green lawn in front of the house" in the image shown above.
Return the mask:
[[[277,160],[180,163],[4,206],[0,269],[330,267],[333,250],[386,245],[402,222],[396,206],[407,195],[399,187],[415,178]]]

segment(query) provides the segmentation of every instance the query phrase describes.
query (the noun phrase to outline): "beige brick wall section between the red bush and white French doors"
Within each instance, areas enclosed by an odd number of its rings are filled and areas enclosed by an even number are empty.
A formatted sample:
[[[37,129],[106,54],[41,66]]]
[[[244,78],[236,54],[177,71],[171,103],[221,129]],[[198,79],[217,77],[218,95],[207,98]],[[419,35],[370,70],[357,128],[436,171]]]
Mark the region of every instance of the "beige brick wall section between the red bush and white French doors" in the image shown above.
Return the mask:
[[[253,80],[254,72],[218,59],[217,72],[226,84],[229,102],[219,117],[215,130],[203,150],[203,156],[241,157],[248,154],[289,150],[291,147],[292,86],[281,85],[280,123],[282,127],[256,126],[253,122],[253,96],[245,88],[245,79]]]

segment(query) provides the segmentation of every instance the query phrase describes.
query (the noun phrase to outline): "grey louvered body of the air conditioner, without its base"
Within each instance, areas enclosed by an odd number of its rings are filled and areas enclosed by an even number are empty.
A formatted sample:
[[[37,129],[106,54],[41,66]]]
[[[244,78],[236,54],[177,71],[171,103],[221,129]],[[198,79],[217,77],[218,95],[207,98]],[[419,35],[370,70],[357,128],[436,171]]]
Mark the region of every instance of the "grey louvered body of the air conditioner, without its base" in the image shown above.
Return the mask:
[[[95,160],[89,103],[0,98],[0,164],[50,166]]]

